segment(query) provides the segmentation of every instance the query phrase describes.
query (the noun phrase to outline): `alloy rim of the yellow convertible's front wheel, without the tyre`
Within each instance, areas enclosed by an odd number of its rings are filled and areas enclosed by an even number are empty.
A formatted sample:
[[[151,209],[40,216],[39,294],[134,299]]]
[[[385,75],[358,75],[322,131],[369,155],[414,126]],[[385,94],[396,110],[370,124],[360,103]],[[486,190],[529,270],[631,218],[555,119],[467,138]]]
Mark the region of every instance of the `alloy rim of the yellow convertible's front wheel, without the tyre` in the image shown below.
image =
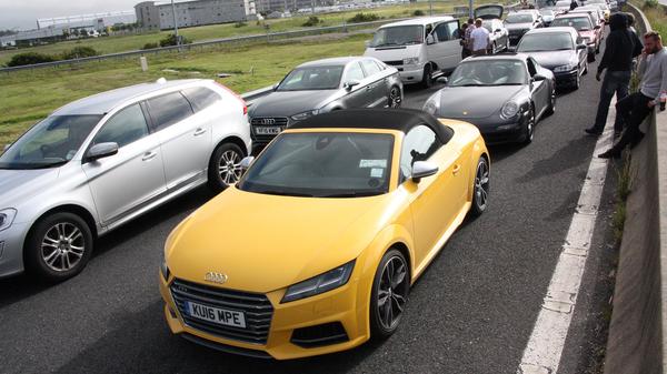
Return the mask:
[[[387,261],[378,287],[378,315],[382,327],[392,330],[398,324],[406,305],[408,265],[400,256]]]

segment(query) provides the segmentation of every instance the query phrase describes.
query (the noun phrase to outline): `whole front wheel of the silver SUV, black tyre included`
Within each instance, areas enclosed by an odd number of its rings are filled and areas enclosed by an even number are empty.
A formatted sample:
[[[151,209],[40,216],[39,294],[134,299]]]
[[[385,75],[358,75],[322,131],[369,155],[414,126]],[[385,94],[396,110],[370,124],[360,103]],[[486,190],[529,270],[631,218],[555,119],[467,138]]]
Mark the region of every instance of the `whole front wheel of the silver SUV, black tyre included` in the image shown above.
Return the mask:
[[[60,282],[79,274],[93,249],[91,229],[79,215],[54,213],[40,219],[26,239],[23,257],[29,273]]]

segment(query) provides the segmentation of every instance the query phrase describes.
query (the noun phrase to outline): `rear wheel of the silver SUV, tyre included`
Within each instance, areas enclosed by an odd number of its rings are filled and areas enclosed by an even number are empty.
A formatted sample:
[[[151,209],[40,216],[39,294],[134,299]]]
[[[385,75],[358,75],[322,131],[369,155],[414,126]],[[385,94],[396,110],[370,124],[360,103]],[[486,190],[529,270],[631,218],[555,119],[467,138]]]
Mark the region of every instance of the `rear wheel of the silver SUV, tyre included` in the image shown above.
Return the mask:
[[[245,153],[235,143],[222,143],[216,148],[208,168],[208,184],[216,192],[222,191],[241,178],[241,160]]]

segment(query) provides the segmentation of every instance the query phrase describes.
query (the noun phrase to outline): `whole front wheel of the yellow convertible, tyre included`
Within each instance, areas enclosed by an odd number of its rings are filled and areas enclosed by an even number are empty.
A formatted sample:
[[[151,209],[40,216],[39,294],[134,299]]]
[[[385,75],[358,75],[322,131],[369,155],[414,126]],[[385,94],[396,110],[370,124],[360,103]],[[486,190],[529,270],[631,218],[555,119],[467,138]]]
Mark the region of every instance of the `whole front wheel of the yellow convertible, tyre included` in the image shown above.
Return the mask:
[[[370,293],[370,336],[384,340],[398,328],[410,292],[410,269],[404,254],[391,249],[385,253]]]

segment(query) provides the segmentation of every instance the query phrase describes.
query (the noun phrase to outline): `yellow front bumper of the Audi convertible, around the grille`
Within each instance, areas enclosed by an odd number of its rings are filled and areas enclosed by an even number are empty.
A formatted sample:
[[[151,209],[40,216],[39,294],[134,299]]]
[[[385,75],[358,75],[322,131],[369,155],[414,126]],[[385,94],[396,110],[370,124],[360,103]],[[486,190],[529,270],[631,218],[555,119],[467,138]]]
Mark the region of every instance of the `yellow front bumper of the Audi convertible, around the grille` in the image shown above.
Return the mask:
[[[368,302],[364,302],[366,297],[360,296],[366,294],[357,292],[360,283],[364,282],[355,279],[354,274],[348,283],[339,289],[285,304],[280,303],[285,289],[266,294],[273,311],[265,344],[221,337],[193,328],[185,322],[175,303],[169,287],[173,276],[170,275],[169,283],[161,274],[159,277],[160,293],[166,302],[165,317],[171,332],[218,351],[252,357],[290,360],[349,350],[366,342],[370,335]],[[342,325],[347,338],[332,341],[327,345],[307,347],[296,343],[292,336],[297,330],[331,323]]]

